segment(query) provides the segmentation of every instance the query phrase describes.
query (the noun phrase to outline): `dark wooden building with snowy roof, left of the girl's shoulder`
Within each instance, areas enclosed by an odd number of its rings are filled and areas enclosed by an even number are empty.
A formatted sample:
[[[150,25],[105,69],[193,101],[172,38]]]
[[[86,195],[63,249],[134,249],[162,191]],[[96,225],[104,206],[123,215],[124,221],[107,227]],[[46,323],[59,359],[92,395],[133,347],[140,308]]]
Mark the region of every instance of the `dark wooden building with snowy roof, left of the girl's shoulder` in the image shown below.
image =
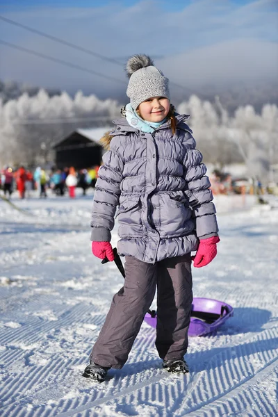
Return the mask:
[[[99,139],[111,130],[111,126],[95,129],[76,129],[67,138],[54,145],[56,167],[88,168],[101,164],[103,148]]]

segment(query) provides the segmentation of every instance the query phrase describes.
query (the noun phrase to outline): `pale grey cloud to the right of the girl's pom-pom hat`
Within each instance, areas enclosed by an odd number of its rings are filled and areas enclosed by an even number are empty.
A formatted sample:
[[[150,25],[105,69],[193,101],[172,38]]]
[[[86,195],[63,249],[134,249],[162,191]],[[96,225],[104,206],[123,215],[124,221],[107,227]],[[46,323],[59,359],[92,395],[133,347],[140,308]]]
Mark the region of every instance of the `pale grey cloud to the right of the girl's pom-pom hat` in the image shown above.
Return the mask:
[[[205,84],[275,79],[278,74],[278,43],[231,40],[195,49],[160,61],[177,83]]]

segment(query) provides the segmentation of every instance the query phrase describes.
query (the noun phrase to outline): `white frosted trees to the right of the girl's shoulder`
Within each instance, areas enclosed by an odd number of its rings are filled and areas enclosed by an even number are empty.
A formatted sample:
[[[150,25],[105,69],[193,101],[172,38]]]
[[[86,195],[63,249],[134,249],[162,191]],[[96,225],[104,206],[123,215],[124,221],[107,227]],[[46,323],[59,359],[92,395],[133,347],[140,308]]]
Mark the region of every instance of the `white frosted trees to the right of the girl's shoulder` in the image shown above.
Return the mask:
[[[191,115],[189,124],[206,162],[222,167],[243,161],[250,177],[268,181],[270,165],[278,162],[278,108],[265,104],[261,114],[252,106],[236,109],[229,115],[220,104],[196,96],[178,107]]]

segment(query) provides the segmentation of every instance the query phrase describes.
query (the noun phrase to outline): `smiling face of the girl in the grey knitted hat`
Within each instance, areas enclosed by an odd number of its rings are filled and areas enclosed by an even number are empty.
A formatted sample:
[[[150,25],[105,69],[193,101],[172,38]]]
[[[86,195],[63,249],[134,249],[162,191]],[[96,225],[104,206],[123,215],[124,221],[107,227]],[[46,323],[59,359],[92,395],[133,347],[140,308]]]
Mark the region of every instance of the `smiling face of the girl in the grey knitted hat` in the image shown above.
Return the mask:
[[[170,101],[165,97],[152,97],[142,101],[138,111],[142,119],[147,122],[161,122],[165,119],[170,110]]]

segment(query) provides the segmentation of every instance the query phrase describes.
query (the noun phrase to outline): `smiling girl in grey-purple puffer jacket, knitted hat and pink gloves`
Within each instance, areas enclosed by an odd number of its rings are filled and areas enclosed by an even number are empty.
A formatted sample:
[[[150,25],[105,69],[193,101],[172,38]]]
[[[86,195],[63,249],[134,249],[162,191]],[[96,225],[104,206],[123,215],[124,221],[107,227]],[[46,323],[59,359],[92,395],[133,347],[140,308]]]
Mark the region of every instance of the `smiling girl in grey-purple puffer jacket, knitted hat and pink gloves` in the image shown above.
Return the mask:
[[[145,55],[126,64],[130,104],[113,131],[99,169],[92,209],[92,253],[113,261],[111,230],[117,206],[117,249],[125,256],[124,286],[90,354],[84,377],[102,382],[122,368],[157,286],[156,348],[163,368],[188,372],[183,359],[193,301],[194,266],[216,255],[218,225],[202,154],[195,149],[188,116],[174,113],[168,79]]]

